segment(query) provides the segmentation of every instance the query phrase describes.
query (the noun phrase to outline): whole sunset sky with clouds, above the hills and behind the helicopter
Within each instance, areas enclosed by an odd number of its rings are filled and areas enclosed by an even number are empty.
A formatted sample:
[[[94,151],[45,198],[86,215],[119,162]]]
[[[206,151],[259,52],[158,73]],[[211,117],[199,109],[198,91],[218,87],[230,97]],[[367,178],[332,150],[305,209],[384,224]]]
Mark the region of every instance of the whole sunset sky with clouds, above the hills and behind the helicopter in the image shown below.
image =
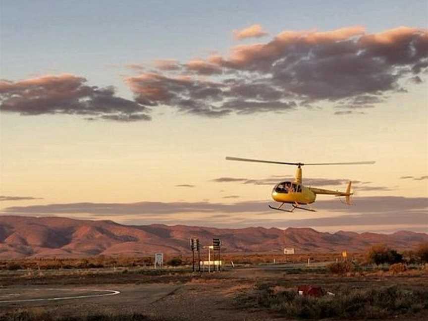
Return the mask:
[[[0,215],[428,232],[427,1],[0,0]],[[289,162],[355,205],[272,211]],[[1,220],[1,216],[0,216]]]

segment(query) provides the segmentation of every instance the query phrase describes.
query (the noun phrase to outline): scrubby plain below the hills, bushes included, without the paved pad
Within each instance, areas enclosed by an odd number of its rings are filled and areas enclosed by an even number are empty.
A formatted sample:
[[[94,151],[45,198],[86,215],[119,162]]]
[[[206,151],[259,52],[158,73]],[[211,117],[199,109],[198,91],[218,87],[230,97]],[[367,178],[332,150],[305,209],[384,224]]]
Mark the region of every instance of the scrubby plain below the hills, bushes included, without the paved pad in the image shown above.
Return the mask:
[[[122,293],[110,301],[97,298],[96,306],[81,301],[79,309],[66,301],[3,306],[0,320],[427,319],[428,244],[404,253],[378,245],[346,262],[336,258],[339,254],[226,254],[223,259],[236,268],[211,274],[192,273],[188,256],[167,257],[174,267],[158,270],[145,257],[3,261],[0,290],[104,286]],[[300,296],[297,287],[303,284],[335,295]],[[168,290],[150,301],[144,291],[160,285]],[[145,304],[143,297],[149,300]]]

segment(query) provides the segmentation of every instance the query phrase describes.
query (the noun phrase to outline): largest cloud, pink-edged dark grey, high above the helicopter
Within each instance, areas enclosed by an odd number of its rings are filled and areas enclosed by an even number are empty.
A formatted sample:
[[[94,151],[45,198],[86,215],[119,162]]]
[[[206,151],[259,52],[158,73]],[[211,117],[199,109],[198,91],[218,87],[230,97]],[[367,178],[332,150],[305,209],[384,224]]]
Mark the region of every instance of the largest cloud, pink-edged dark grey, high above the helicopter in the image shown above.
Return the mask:
[[[144,106],[169,106],[206,117],[289,112],[320,102],[347,109],[336,115],[361,114],[356,109],[406,92],[403,83],[417,82],[415,77],[425,74],[428,31],[399,27],[369,34],[361,26],[286,30],[268,42],[174,62],[178,65],[175,70],[160,66],[125,82]]]

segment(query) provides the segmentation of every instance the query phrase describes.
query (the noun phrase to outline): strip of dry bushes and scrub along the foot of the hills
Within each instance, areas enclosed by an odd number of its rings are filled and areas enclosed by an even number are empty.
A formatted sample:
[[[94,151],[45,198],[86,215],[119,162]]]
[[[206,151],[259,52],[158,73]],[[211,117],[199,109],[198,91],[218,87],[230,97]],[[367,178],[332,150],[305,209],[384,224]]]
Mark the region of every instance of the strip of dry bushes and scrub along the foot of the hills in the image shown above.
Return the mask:
[[[195,256],[197,260],[197,255]],[[212,254],[217,259],[217,253]],[[222,253],[221,259],[226,264],[233,262],[237,265],[271,264],[273,262],[287,264],[307,263],[310,259],[312,264],[322,262],[342,261],[341,253],[309,253],[283,255],[282,253]],[[201,260],[207,260],[207,253],[201,252]],[[353,262],[353,266],[373,268],[375,264],[379,268],[382,264],[415,265],[428,263],[428,243],[421,243],[415,249],[398,252],[384,244],[378,244],[369,248],[366,252],[348,253],[347,262]],[[165,266],[179,267],[192,264],[192,256],[165,255]],[[0,270],[47,270],[47,269],[88,269],[88,268],[131,268],[131,267],[153,267],[153,256],[105,256],[98,255],[87,258],[32,258],[0,260]],[[380,267],[381,268],[381,267]]]

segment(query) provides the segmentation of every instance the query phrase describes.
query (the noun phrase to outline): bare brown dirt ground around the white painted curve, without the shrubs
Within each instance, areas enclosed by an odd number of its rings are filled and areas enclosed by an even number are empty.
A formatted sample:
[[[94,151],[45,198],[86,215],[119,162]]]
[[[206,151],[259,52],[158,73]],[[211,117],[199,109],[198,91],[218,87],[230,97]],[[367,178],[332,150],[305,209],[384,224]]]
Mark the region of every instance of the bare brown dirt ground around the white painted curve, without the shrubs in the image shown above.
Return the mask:
[[[182,270],[159,273],[153,270],[4,271],[0,273],[0,315],[18,309],[38,309],[55,316],[140,313],[155,319],[178,321],[286,320],[267,310],[239,305],[237,296],[252,291],[260,283],[280,287],[313,284],[331,292],[343,286],[364,289],[398,285],[406,289],[424,289],[428,287],[428,277],[381,273],[343,277],[316,271],[293,273],[285,266],[273,265],[230,268],[210,274]],[[112,294],[112,291],[120,293]],[[107,293],[111,295],[99,296]],[[67,299],[62,300],[64,297]],[[414,320],[425,317],[421,315]],[[409,320],[409,317],[393,319]]]

